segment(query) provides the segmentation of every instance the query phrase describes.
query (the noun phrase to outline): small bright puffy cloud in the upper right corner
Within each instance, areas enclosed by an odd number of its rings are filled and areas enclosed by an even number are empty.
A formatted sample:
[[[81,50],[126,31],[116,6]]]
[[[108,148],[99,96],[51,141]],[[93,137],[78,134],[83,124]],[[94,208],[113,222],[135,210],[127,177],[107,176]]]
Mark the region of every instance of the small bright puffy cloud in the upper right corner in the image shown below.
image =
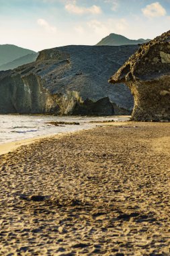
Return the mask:
[[[142,9],[142,13],[148,18],[161,17],[166,15],[166,10],[159,2],[151,3],[151,5],[146,5]]]

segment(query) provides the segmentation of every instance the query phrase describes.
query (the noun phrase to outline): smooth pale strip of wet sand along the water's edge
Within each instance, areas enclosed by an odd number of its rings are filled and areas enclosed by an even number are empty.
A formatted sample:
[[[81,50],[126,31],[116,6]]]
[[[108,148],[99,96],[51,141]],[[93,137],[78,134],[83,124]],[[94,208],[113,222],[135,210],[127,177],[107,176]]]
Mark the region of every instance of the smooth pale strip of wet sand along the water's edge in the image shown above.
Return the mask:
[[[96,122],[96,127],[91,127],[89,129],[82,129],[81,131],[88,131],[91,129],[95,129],[97,127],[101,127],[101,126],[103,127],[103,126],[108,126],[108,125],[114,125],[114,126],[126,125],[127,123],[129,123],[129,121],[108,122],[108,123],[97,123]],[[65,135],[69,135],[69,134],[77,133],[77,132],[79,132],[79,131],[67,131],[67,132],[53,134],[53,135],[49,134],[49,135],[35,136],[30,139],[22,139],[22,140],[9,141],[7,143],[2,143],[2,144],[0,144],[0,156],[5,155],[9,152],[13,152],[21,146],[28,146],[32,143],[36,143],[36,142],[44,140],[44,139],[52,139],[52,138],[55,139],[56,137],[61,137],[61,136],[65,136]]]

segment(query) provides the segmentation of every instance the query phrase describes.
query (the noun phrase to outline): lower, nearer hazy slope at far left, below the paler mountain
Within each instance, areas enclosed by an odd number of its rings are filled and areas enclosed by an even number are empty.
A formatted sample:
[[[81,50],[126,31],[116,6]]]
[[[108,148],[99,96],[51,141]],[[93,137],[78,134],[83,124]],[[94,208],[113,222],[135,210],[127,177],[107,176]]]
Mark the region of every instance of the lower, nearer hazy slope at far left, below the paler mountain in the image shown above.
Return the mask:
[[[15,59],[14,61],[0,65],[0,71],[8,70],[8,69],[15,69],[15,67],[19,67],[21,65],[31,63],[33,61],[36,61],[37,57],[38,57],[38,53],[30,53],[28,55],[25,55],[23,57]]]

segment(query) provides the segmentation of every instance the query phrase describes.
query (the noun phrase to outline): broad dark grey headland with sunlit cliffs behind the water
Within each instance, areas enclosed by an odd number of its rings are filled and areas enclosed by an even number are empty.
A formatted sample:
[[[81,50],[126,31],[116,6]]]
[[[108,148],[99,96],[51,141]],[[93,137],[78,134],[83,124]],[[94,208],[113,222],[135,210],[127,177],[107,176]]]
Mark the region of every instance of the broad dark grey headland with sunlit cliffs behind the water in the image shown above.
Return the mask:
[[[107,80],[136,49],[63,46],[41,51],[35,62],[0,72],[0,113],[128,114],[130,90]]]

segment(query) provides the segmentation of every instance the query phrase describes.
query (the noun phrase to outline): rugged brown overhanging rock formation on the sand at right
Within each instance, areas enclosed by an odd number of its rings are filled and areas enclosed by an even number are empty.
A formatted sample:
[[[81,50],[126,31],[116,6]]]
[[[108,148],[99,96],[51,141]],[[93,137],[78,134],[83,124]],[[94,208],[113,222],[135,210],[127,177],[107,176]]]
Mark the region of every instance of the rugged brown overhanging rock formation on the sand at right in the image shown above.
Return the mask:
[[[110,78],[134,96],[134,121],[170,121],[170,30],[146,44]]]

